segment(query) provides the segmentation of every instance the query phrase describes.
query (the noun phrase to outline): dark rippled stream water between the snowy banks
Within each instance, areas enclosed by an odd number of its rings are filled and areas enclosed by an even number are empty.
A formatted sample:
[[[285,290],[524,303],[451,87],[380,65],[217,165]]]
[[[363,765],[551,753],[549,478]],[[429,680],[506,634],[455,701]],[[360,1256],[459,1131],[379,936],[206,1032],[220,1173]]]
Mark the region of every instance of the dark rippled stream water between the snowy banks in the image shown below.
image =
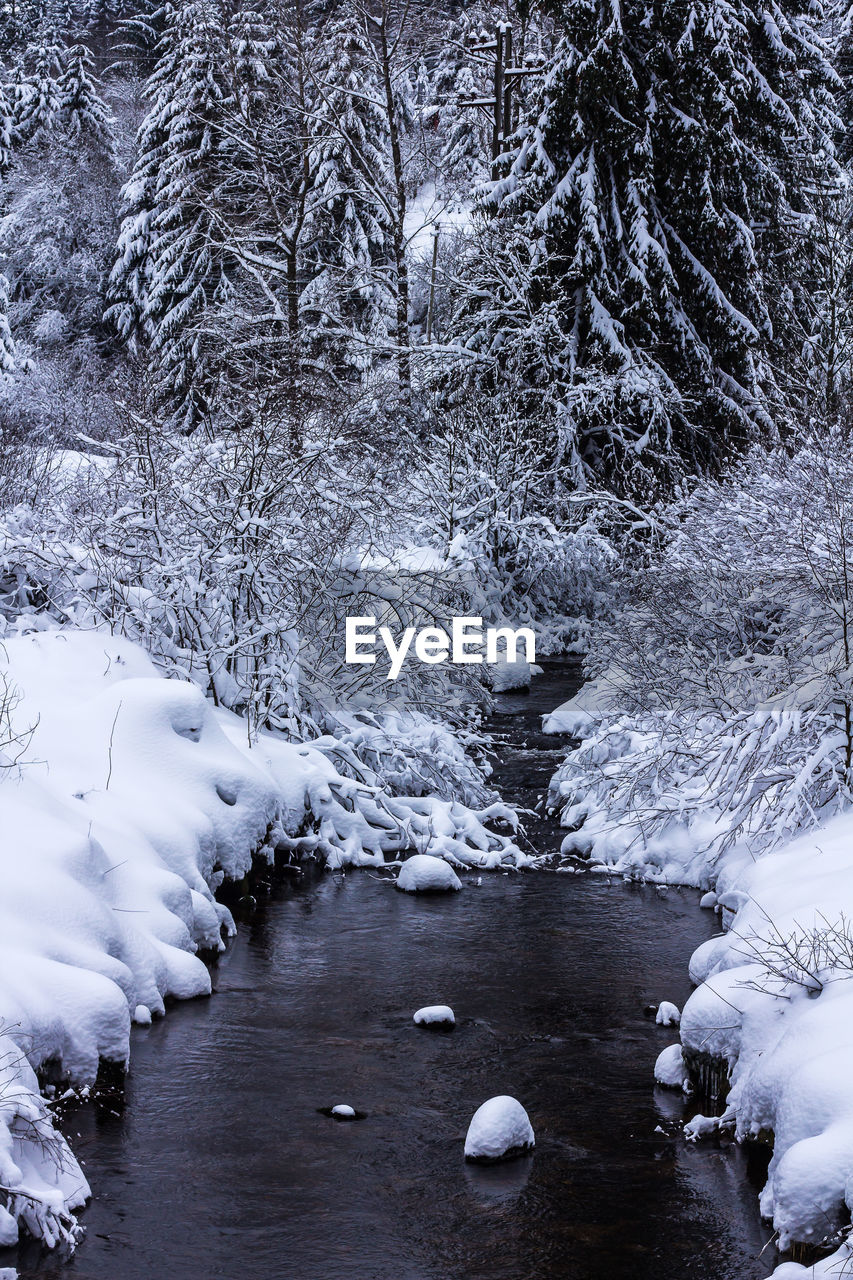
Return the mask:
[[[544,788],[556,744],[538,714],[571,675],[551,667],[530,698],[502,700],[507,799]],[[557,847],[552,823],[530,829]],[[70,1117],[95,1188],[88,1234],[68,1265],[22,1251],[22,1276],[766,1276],[744,1153],[685,1144],[680,1098],[652,1087],[674,1036],[643,1006],[688,995],[686,959],[715,923],[697,895],[596,876],[469,881],[439,899],[370,873],[277,891],[211,1000],[133,1033],[123,1114]],[[433,1002],[452,1005],[453,1033],[414,1027]],[[467,1121],[496,1093],[528,1108],[535,1155],[473,1169]],[[366,1117],[319,1114],[336,1102]]]

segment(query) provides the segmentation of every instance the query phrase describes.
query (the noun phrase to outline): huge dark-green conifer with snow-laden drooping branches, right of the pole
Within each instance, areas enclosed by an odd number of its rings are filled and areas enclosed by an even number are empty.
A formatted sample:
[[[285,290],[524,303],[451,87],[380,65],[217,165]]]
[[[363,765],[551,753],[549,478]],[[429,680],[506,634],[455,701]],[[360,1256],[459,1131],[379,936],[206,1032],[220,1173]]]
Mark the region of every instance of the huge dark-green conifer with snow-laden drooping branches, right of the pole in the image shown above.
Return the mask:
[[[834,172],[833,73],[799,0],[571,0],[487,205],[456,333],[571,484],[646,499],[774,430],[799,180]],[[487,370],[485,374],[478,370]]]

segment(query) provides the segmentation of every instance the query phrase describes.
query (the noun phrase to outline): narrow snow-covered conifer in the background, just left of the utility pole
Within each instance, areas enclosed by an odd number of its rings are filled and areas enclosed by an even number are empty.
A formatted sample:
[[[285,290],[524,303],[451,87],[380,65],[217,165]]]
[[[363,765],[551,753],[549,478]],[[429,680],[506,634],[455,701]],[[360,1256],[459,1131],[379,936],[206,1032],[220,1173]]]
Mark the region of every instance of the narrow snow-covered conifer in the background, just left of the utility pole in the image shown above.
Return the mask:
[[[343,4],[314,58],[311,265],[304,307],[318,352],[365,371],[388,344],[394,210],[383,86],[360,13]]]

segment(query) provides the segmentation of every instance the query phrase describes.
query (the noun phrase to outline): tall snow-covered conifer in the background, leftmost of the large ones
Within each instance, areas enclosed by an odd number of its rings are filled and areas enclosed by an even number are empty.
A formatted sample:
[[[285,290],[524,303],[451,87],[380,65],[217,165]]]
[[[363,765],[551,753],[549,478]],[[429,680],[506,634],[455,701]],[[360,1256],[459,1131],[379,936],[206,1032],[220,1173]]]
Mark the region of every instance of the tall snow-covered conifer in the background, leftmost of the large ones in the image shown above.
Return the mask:
[[[124,220],[108,312],[147,353],[155,392],[183,430],[209,412],[218,378],[211,315],[232,262],[223,186],[223,118],[231,110],[225,33],[216,0],[172,8],[138,157],[124,187]]]

